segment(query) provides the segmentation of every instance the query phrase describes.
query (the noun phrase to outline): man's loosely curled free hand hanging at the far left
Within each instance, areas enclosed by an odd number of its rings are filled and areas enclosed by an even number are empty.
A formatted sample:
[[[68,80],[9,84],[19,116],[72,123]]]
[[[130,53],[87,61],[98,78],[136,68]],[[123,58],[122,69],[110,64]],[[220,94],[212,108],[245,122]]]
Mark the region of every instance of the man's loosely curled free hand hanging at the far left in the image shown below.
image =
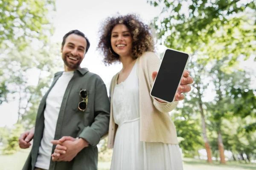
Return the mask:
[[[22,133],[19,138],[19,146],[21,149],[29,148],[31,143],[30,141],[34,138],[35,127],[31,130]]]

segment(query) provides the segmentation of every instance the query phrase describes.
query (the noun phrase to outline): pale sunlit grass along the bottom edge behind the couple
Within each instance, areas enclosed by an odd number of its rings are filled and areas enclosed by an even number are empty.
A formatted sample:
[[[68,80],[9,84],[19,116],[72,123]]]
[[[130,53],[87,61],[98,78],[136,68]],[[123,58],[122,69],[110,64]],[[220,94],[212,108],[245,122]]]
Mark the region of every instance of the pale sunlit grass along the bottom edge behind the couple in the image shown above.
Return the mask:
[[[29,154],[29,149],[20,150],[13,155],[0,154],[0,170],[21,170]],[[99,162],[99,170],[109,170],[110,162]],[[214,162],[208,164],[205,160],[183,158],[184,170],[256,170],[256,164],[244,164],[228,161],[227,164]]]

